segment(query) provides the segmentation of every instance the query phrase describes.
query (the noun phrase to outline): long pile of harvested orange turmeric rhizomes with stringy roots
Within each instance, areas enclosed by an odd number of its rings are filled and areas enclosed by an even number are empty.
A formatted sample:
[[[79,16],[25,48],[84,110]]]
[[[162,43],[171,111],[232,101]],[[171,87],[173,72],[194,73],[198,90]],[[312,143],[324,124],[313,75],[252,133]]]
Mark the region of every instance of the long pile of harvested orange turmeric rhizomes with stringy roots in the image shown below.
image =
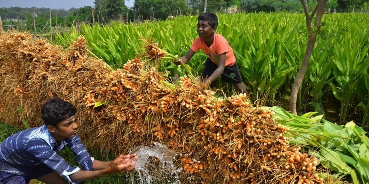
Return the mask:
[[[77,107],[78,134],[86,146],[127,153],[160,142],[180,153],[182,183],[324,182],[317,159],[290,146],[284,137],[288,128],[277,125],[274,112],[250,105],[246,95],[215,98],[187,77],[180,86],[168,85],[155,67],[137,58],[112,70],[90,56],[85,43],[80,36],[64,51],[28,33],[3,32],[1,120],[42,125],[42,104],[59,96]]]

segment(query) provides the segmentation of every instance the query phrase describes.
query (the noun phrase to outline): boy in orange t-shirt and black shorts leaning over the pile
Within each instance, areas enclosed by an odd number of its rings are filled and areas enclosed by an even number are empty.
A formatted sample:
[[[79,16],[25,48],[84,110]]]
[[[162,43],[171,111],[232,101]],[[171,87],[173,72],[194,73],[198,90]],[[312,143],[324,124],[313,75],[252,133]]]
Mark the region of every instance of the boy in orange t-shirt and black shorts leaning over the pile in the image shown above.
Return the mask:
[[[208,56],[202,74],[204,83],[209,81],[212,83],[221,76],[224,82],[234,84],[238,92],[249,95],[239,75],[232,48],[223,36],[215,33],[218,26],[217,15],[203,13],[197,17],[197,21],[197,33],[199,37],[193,41],[186,56],[180,57],[174,63],[176,65],[181,64],[181,62],[187,63],[199,49],[202,49]]]

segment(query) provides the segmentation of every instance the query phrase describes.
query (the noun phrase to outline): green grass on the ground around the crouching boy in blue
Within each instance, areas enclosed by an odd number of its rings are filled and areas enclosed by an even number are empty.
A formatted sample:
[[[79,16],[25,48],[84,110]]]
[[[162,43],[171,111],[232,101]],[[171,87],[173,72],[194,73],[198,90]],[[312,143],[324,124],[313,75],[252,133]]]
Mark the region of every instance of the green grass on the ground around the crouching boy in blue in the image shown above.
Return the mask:
[[[10,135],[13,135],[17,133],[18,131],[21,131],[22,128],[20,127],[13,127],[8,124],[4,124],[0,122],[0,142],[2,142],[4,139],[9,137]],[[87,151],[90,153],[90,156],[94,157],[97,160],[101,161],[108,161],[113,160],[113,156],[103,156],[100,154],[100,151],[94,150],[94,149],[88,149]],[[71,166],[79,166],[77,161],[74,158],[73,152],[70,151],[69,148],[63,149],[59,153],[59,155],[64,158]],[[80,166],[79,166],[80,167]],[[80,167],[81,169],[83,167]],[[97,178],[93,181],[87,181],[86,184],[128,184],[129,182],[128,175],[127,174],[112,174],[109,176]],[[39,184],[42,184],[39,182]]]

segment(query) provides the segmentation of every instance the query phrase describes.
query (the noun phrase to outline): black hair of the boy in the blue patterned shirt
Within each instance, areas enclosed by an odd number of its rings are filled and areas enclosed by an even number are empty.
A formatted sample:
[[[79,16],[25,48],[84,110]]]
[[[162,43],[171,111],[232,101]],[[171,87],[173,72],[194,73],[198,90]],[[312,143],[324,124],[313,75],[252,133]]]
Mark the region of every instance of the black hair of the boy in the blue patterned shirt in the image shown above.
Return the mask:
[[[41,117],[46,126],[58,128],[58,123],[76,114],[77,108],[58,97],[46,100],[41,107]]]

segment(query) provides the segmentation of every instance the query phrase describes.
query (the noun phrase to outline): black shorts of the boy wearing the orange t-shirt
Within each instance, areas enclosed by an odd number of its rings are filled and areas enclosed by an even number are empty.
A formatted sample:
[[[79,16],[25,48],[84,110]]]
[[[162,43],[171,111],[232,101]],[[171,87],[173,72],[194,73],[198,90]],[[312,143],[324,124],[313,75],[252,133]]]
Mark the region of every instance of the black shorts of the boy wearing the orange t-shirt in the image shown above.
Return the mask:
[[[218,68],[217,64],[213,63],[213,61],[211,61],[209,58],[206,59],[205,68],[203,72],[203,79],[210,77],[210,75],[213,74],[213,72],[217,70],[217,68]],[[220,77],[222,78],[224,82],[228,82],[231,84],[242,83],[242,79],[241,79],[241,76],[239,75],[239,71],[238,71],[238,67],[236,63],[234,63],[233,66],[225,67]]]

